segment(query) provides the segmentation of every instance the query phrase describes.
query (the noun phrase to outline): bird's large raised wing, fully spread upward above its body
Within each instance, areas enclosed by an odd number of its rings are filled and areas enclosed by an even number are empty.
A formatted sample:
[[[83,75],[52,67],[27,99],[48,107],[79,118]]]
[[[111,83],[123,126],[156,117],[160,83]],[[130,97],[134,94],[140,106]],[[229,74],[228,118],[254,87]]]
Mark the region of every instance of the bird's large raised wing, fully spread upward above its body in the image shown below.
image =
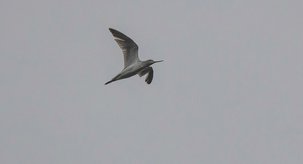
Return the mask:
[[[120,31],[117,31],[112,28],[108,28],[109,31],[113,34],[116,38],[115,41],[118,43],[120,48],[122,49],[123,56],[124,56],[124,68],[132,65],[136,61],[139,60],[138,57],[138,46],[137,44],[131,39],[128,38],[125,34]]]

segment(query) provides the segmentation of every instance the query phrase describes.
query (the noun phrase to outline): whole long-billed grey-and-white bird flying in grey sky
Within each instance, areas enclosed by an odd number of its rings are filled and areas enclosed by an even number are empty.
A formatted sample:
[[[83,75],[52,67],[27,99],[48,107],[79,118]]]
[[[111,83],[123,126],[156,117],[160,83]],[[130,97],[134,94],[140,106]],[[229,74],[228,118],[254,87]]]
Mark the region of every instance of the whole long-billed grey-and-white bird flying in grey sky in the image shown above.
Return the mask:
[[[124,56],[124,69],[118,73],[112,80],[108,81],[106,84],[109,84],[113,81],[125,79],[128,77],[132,77],[136,74],[139,77],[146,75],[145,82],[147,84],[151,84],[154,71],[152,69],[151,64],[160,62],[154,60],[146,60],[141,61],[138,57],[138,45],[128,36],[123,34],[122,32],[108,28],[112,35],[115,37],[115,41],[118,43],[119,47],[122,49]]]

